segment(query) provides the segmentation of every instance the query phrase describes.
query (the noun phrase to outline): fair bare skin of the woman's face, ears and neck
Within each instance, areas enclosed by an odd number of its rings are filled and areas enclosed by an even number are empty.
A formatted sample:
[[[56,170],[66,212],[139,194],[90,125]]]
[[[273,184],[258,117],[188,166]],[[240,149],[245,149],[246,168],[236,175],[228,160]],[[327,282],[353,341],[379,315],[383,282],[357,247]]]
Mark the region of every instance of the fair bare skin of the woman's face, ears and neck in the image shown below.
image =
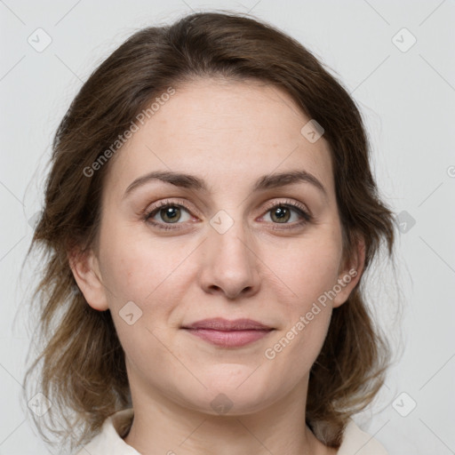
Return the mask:
[[[125,442],[142,454],[334,454],[305,426],[308,373],[333,307],[363,271],[364,249],[345,264],[328,143],[301,133],[309,118],[281,89],[258,82],[197,80],[170,100],[117,152],[103,188],[99,248],[72,260],[88,304],[109,309],[124,347],[135,413]],[[323,183],[252,192],[264,174],[306,170]],[[208,193],[151,180],[152,171],[185,172]],[[159,201],[187,203],[180,229],[160,230],[143,212]],[[296,202],[280,223],[271,204]],[[268,204],[268,205],[267,205]],[[220,234],[223,210],[234,224]],[[158,211],[153,220],[175,227]],[[166,224],[167,221],[167,224]],[[291,226],[294,228],[283,228]],[[274,230],[275,228],[275,230]],[[274,347],[317,298],[355,268],[357,275],[275,358]],[[142,311],[131,325],[119,311]],[[216,347],[183,331],[204,318],[251,318],[275,328],[245,347]],[[227,413],[212,408],[228,397]]]

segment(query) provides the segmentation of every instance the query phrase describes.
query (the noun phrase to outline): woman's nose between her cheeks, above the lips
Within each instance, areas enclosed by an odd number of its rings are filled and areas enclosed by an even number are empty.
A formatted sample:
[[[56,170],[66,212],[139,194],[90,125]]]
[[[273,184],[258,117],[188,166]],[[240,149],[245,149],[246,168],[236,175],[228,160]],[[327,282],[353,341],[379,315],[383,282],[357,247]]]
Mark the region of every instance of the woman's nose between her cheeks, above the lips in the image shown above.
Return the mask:
[[[249,234],[237,221],[223,234],[209,229],[199,275],[204,291],[228,299],[251,297],[259,291],[261,262]]]

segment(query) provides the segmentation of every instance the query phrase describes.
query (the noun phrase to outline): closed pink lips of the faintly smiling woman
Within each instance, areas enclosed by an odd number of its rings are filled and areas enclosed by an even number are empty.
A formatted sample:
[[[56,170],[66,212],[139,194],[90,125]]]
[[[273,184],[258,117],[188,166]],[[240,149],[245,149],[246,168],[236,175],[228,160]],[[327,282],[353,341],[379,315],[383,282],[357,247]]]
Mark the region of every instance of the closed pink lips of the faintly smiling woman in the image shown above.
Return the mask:
[[[267,336],[272,327],[251,319],[204,319],[182,327],[192,335],[220,347],[243,347]]]

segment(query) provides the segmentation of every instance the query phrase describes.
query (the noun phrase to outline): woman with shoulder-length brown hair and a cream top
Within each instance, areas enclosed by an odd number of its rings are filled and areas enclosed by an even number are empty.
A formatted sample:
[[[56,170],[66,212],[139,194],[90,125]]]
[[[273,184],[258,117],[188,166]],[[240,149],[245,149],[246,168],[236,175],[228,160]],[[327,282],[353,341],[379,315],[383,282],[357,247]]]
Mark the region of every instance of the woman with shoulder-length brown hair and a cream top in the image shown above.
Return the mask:
[[[362,118],[301,44],[232,13],[140,30],[53,143],[40,419],[91,455],[387,453],[351,419],[389,360],[382,241]]]

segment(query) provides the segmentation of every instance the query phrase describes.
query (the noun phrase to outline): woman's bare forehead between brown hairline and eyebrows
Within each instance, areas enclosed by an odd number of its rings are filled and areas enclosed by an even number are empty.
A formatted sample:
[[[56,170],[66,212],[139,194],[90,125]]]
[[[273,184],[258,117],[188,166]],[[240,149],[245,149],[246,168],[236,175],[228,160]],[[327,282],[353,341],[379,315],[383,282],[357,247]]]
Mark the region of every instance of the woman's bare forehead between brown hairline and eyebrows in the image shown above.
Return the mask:
[[[217,188],[234,177],[255,181],[266,173],[304,169],[333,191],[328,143],[302,135],[310,119],[275,85],[201,79],[155,100],[153,115],[137,123],[111,164],[111,190],[124,191],[156,170],[198,175]]]

